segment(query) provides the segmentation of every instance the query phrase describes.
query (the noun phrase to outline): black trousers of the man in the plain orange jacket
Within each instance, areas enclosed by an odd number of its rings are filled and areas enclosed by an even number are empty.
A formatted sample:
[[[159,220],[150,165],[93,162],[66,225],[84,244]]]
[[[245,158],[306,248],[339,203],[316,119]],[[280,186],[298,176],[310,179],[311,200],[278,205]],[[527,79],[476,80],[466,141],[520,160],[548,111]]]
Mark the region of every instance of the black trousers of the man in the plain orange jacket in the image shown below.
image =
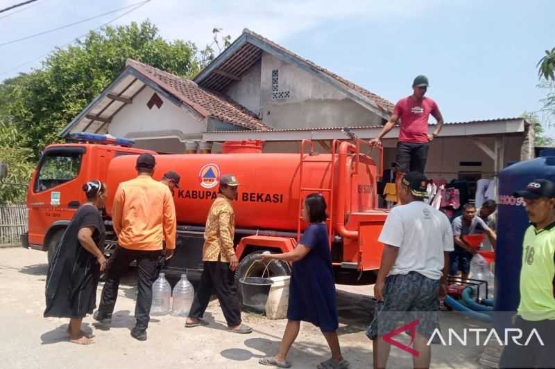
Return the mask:
[[[119,280],[133,260],[137,260],[139,275],[137,287],[137,303],[135,304],[136,327],[146,330],[151,317],[152,284],[157,278],[158,265],[162,258],[162,251],[139,251],[117,246],[116,251],[108,261],[108,273],[102,289],[99,312],[102,315],[112,314],[117,300]]]

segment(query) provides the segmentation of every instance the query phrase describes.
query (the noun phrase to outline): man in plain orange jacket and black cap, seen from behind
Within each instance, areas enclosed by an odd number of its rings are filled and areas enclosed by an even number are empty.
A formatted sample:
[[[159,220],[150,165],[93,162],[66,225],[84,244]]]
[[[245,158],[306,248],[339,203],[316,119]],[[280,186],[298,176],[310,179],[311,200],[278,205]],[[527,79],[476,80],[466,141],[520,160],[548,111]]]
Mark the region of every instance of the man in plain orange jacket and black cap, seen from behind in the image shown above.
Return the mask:
[[[137,260],[137,323],[131,330],[131,336],[139,341],[146,341],[157,262],[162,253],[169,258],[176,249],[176,208],[168,186],[152,178],[155,164],[151,154],[139,155],[135,167],[138,176],[120,183],[117,188],[112,224],[118,246],[110,258],[101,303],[94,313],[96,321],[111,323],[119,279],[130,262]],[[165,250],[162,248],[163,240],[166,241]]]

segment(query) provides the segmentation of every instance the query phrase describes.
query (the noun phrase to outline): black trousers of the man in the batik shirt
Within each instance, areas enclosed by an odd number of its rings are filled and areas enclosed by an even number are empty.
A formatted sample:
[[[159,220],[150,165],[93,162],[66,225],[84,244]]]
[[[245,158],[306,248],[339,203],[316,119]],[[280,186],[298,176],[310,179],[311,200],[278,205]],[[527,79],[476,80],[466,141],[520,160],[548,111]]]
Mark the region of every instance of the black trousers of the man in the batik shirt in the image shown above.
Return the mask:
[[[230,270],[230,263],[204,262],[203,276],[189,314],[191,318],[203,317],[212,292],[218,297],[228,327],[241,324],[239,293],[235,285],[235,272]]]

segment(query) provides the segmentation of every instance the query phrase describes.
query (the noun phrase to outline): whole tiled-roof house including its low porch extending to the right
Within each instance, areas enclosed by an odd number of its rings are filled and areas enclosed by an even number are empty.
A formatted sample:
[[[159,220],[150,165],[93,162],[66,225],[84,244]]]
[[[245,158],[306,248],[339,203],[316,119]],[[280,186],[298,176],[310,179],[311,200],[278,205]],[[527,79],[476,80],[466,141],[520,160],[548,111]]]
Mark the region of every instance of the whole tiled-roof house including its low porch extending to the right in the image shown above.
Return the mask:
[[[317,152],[329,152],[345,131],[377,136],[392,111],[376,93],[245,29],[193,80],[128,60],[61,134],[109,133],[167,153],[219,152],[223,141],[244,139],[264,140],[264,152],[298,152],[309,138]],[[386,168],[398,133],[395,127],[382,140]],[[532,155],[523,118],[445,123],[429,146],[427,174],[475,181]]]

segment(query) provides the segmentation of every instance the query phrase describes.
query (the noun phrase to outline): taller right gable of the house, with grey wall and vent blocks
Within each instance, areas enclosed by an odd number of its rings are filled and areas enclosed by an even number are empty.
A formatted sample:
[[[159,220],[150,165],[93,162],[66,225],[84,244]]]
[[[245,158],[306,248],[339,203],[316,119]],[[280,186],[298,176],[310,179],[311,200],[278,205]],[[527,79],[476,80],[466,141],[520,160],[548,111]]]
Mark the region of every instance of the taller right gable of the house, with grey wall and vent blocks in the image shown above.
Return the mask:
[[[272,129],[381,125],[393,104],[245,29],[194,78]]]

